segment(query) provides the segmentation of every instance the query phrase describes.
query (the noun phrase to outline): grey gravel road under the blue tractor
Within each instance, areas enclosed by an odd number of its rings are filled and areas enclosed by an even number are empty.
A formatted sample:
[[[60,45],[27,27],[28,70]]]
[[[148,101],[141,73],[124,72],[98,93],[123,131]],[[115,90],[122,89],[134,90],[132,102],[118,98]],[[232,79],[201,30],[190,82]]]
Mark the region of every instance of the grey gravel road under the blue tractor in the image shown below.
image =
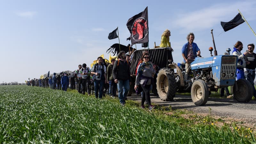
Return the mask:
[[[256,100],[248,103],[238,103],[233,99],[209,98],[204,106],[196,106],[191,96],[176,95],[173,101],[162,101],[159,97],[151,95],[151,102],[156,105],[171,106],[172,109],[187,109],[198,114],[206,114],[214,117],[234,120],[239,123],[245,123],[256,127]],[[128,97],[130,100],[138,100],[138,95]]]

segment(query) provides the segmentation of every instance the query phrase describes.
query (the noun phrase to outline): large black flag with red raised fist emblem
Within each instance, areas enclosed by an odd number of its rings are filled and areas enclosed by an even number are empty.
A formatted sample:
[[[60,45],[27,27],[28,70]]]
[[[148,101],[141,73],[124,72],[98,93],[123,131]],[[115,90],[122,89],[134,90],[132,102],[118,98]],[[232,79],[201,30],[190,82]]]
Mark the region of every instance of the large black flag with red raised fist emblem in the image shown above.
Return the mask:
[[[148,43],[148,7],[143,12],[131,17],[126,26],[131,33],[131,45]]]

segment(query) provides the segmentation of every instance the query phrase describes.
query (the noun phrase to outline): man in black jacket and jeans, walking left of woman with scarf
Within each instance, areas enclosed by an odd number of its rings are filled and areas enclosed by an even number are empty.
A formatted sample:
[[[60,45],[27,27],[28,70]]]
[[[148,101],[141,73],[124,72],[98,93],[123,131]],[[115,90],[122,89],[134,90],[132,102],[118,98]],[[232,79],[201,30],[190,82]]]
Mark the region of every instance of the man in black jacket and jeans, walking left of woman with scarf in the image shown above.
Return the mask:
[[[130,90],[130,67],[129,62],[126,61],[124,51],[120,51],[117,55],[117,58],[118,60],[115,61],[113,66],[112,75],[115,83],[117,84],[119,102],[122,106],[124,106],[126,95]]]

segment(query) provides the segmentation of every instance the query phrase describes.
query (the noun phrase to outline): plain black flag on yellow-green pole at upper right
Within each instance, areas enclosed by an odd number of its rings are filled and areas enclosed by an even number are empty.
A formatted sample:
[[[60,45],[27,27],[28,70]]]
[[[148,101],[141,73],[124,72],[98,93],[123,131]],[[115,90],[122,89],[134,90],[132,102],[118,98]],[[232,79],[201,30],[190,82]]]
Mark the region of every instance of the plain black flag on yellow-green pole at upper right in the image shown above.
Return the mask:
[[[232,28],[237,27],[238,25],[242,24],[243,22],[244,22],[244,20],[242,19],[241,14],[238,13],[234,19],[232,19],[228,22],[221,21],[220,24],[221,24],[222,28],[224,29],[224,31],[228,31]]]

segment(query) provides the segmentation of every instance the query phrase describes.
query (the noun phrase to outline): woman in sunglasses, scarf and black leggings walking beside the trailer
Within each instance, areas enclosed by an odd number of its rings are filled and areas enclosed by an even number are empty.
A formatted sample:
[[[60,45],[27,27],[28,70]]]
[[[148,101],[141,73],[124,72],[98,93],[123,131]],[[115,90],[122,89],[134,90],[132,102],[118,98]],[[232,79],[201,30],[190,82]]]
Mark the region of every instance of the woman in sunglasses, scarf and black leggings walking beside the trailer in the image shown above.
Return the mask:
[[[141,60],[143,62],[137,68],[137,76],[136,76],[134,90],[137,90],[139,86],[142,88],[143,95],[142,95],[140,107],[145,108],[144,102],[146,100],[149,105],[148,107],[149,110],[152,110],[153,108],[155,108],[155,106],[151,105],[149,92],[150,92],[150,86],[153,83],[153,77],[154,77],[155,71],[153,69],[152,62],[149,61],[148,53],[144,53],[141,57]]]

